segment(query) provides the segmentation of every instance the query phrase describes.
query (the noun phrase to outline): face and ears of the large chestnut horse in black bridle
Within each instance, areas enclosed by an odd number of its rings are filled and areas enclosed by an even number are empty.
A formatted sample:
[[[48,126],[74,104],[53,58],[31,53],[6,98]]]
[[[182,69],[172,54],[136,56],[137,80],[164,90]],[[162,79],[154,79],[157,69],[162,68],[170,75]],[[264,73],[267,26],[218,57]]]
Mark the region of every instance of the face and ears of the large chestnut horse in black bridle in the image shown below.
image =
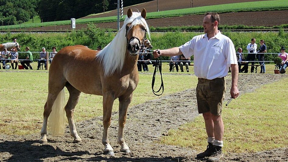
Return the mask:
[[[130,19],[133,16],[131,8],[127,11],[127,17]],[[146,18],[146,9],[142,9],[141,16],[132,17],[132,22],[126,24],[126,39],[127,39],[127,48],[130,52],[130,55],[138,55],[141,44],[146,38],[147,24],[144,20]],[[143,20],[141,20],[143,19]],[[139,23],[145,21],[145,23]]]

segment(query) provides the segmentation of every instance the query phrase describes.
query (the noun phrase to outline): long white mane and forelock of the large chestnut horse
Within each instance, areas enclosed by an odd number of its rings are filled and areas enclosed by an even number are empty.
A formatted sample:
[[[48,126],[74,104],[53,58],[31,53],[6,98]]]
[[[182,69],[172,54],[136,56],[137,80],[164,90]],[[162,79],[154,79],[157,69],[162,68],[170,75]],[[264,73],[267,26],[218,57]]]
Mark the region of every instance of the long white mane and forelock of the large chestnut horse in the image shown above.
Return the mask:
[[[103,65],[104,76],[106,77],[111,76],[115,71],[121,71],[123,68],[127,44],[127,39],[125,37],[126,25],[129,23],[131,23],[130,29],[132,26],[138,24],[145,26],[150,39],[149,27],[145,19],[141,16],[141,13],[133,12],[130,18],[127,16],[123,26],[118,31],[114,39],[97,54],[97,59],[99,59],[100,63]]]

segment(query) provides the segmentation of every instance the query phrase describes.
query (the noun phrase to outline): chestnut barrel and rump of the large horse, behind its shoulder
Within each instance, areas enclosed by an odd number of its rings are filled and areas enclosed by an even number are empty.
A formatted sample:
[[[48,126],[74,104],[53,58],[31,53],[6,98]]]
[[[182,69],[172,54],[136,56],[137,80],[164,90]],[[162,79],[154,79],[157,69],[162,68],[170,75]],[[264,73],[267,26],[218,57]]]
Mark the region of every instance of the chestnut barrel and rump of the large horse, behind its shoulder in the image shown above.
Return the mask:
[[[49,82],[63,79],[63,82],[69,82],[79,91],[99,94],[99,88],[95,90],[90,87],[101,85],[100,75],[103,69],[96,60],[96,54],[97,51],[82,45],[62,48],[51,62]]]

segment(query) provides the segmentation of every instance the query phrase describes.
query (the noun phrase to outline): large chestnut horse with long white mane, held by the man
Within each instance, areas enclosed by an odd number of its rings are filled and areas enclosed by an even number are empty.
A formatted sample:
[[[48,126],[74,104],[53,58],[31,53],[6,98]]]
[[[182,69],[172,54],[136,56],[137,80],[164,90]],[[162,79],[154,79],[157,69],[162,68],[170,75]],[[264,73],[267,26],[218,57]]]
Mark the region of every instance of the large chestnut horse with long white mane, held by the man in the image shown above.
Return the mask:
[[[59,112],[61,110],[66,111],[70,135],[74,138],[74,142],[81,141],[74,124],[73,112],[80,93],[84,92],[103,96],[102,143],[105,146],[104,153],[109,155],[114,155],[108,140],[111,111],[114,100],[119,99],[118,144],[121,146],[121,152],[130,152],[124,140],[124,125],[127,109],[132,100],[132,92],[139,82],[137,70],[139,48],[146,37],[146,32],[150,37],[145,18],[145,9],[141,14],[128,9],[122,28],[113,41],[99,53],[85,46],[76,45],[65,47],[55,55],[49,70],[48,97],[44,106],[40,142],[47,142],[47,120],[50,113],[48,124],[54,122],[56,124],[51,125],[55,127],[64,122],[62,118],[55,117],[55,115],[62,114]],[[61,103],[64,100],[64,86],[70,93],[68,102],[64,109],[57,107],[57,110],[54,110],[53,107],[56,107],[58,101]]]

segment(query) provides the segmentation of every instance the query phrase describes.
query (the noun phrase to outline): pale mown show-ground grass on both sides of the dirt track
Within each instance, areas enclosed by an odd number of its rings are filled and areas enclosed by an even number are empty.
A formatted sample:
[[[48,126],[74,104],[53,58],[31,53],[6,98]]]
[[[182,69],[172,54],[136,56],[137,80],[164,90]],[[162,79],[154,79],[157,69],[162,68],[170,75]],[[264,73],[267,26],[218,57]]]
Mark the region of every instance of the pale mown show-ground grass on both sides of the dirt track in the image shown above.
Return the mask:
[[[36,68],[36,63],[33,62],[32,66]],[[267,73],[273,73],[274,65],[266,65],[266,69]],[[133,93],[130,106],[158,98],[151,91],[153,72],[151,65],[149,65],[149,71],[139,72],[139,85]],[[167,63],[163,63],[165,91],[162,96],[186,90],[187,87],[195,88],[197,79],[193,73],[193,66],[190,66],[189,73],[177,73],[169,72]],[[240,74],[240,78],[241,75],[250,74]],[[2,99],[0,134],[39,133],[43,120],[43,107],[47,98],[48,72],[46,70],[2,69],[0,81],[4,85],[0,87]],[[158,75],[155,88],[159,86],[160,76]],[[279,93],[283,92],[283,87],[287,86],[288,83],[285,80],[264,85],[253,93],[241,95],[237,103],[232,102],[229,107],[225,107],[225,113],[223,113],[225,151],[255,152],[288,145],[285,133],[288,127],[288,107],[285,99],[288,96],[286,93]],[[65,96],[67,101],[67,90]],[[269,101],[264,98],[269,98]],[[118,111],[117,100],[114,102],[113,111]],[[85,121],[96,116],[102,116],[102,97],[82,93],[75,110],[75,121]],[[170,130],[168,136],[163,137],[160,143],[191,147],[200,151],[206,144],[203,138],[205,136],[202,116],[198,116],[194,122],[182,125],[176,130]]]

